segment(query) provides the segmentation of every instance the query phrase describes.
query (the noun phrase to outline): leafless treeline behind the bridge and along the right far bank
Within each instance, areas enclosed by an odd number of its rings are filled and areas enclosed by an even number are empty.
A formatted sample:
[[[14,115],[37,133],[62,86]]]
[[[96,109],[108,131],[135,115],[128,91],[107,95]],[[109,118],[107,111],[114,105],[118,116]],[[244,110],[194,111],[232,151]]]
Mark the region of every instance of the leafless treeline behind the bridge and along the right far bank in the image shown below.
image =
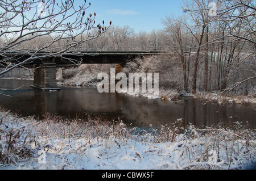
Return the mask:
[[[110,27],[86,45],[172,50],[175,56],[167,61],[180,62],[177,76],[183,77],[179,83],[185,91],[255,95],[255,1],[191,0],[184,2],[183,10],[181,16],[164,17],[163,30],[135,33],[129,26]]]

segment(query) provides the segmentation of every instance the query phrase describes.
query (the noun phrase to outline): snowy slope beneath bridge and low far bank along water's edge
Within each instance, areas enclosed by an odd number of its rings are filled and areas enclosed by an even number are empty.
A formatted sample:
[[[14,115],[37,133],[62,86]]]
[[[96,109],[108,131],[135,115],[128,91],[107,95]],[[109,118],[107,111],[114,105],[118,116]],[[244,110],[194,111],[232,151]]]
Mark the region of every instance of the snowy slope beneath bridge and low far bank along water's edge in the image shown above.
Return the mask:
[[[79,68],[70,68],[61,70],[58,69],[56,73],[57,85],[58,86],[81,86],[81,87],[97,87],[99,80],[97,79],[98,73],[108,72],[113,65],[86,65],[83,64]],[[129,90],[129,89],[127,89]],[[219,104],[225,104],[226,102],[235,104],[256,104],[255,95],[224,95],[220,92],[201,92],[198,91],[196,94],[189,92],[178,91],[177,89],[162,88],[159,87],[159,95],[152,95],[146,93],[135,93],[135,92],[123,92],[134,97],[145,97],[148,99],[162,99],[170,102],[179,102],[180,96],[190,96],[196,99],[208,101],[215,101]]]

